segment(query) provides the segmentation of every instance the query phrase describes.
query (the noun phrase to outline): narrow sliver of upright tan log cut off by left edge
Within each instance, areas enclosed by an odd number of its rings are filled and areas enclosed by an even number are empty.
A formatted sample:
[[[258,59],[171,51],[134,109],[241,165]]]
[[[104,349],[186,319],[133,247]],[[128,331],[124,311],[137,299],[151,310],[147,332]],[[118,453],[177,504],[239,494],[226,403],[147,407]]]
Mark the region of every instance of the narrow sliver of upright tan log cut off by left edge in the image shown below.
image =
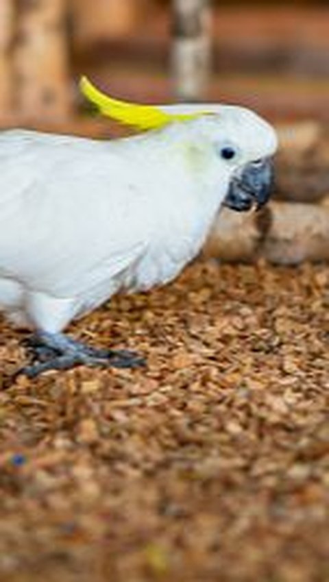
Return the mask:
[[[12,67],[10,46],[14,34],[14,3],[0,1],[0,118],[5,120],[12,110]]]

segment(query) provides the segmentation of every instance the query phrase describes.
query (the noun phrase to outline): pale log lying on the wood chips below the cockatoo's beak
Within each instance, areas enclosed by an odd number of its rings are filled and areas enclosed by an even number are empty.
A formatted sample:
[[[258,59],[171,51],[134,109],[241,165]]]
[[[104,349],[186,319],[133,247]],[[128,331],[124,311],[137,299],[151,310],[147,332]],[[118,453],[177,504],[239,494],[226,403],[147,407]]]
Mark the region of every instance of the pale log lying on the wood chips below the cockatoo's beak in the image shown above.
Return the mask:
[[[224,208],[204,254],[228,261],[263,257],[281,265],[328,260],[329,199],[321,205],[272,202],[259,214]]]

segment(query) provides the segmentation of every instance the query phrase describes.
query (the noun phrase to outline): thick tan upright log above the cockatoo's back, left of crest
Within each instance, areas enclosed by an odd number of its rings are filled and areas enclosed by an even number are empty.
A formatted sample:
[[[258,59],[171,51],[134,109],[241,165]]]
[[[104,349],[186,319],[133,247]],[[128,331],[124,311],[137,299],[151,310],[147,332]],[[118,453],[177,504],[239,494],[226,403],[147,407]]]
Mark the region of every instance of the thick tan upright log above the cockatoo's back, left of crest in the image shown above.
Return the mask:
[[[66,0],[19,0],[14,82],[16,108],[29,120],[70,112]]]

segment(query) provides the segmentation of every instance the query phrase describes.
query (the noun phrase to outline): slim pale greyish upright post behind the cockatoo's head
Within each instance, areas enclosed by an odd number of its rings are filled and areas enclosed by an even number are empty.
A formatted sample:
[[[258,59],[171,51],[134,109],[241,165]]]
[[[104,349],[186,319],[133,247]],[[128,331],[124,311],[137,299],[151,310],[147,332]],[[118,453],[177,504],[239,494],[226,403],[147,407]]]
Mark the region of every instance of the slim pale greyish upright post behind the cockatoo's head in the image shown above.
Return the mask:
[[[210,76],[210,0],[173,0],[171,68],[178,101],[200,101]]]

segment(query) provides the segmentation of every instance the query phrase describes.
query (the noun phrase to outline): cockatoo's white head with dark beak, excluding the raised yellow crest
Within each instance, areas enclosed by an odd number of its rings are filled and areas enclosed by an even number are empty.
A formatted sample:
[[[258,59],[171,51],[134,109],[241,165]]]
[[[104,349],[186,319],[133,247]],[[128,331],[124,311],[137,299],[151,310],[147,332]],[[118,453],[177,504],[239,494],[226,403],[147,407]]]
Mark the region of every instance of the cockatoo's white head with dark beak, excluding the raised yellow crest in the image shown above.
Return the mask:
[[[253,111],[238,106],[173,106],[175,111],[199,114],[185,122],[195,147],[207,151],[212,173],[227,181],[223,204],[233,210],[261,208],[273,184],[273,154],[278,147],[275,130]],[[206,110],[205,113],[199,113]]]

